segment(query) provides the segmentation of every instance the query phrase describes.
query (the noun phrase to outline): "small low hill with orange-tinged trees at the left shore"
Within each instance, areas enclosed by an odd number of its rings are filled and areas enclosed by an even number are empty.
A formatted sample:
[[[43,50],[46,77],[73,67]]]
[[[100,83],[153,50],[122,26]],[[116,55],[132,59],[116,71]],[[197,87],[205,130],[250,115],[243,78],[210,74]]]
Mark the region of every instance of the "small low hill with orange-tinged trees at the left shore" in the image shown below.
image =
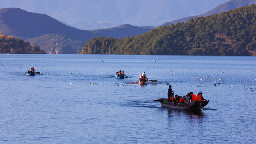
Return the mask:
[[[0,53],[45,54],[36,45],[30,46],[29,42],[24,42],[13,36],[4,35],[0,35]]]

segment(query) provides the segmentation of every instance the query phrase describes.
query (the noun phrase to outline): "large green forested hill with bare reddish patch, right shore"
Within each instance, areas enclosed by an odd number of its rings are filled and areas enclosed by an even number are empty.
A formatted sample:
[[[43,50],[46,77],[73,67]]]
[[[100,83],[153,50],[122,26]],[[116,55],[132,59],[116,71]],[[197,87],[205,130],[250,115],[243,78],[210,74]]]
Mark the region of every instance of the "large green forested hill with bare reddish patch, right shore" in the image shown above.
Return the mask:
[[[256,5],[196,17],[124,39],[93,38],[80,54],[255,55]]]

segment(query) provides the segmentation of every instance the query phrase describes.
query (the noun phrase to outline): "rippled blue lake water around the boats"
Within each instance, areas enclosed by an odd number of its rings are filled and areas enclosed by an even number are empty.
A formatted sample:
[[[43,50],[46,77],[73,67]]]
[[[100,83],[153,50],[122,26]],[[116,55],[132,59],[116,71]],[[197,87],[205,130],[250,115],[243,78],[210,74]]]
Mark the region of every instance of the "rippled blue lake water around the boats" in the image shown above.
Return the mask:
[[[40,74],[24,75],[32,66]],[[158,83],[131,86],[143,71]],[[0,54],[0,143],[255,144],[255,79],[252,56]],[[165,83],[202,91],[208,110],[162,108]]]

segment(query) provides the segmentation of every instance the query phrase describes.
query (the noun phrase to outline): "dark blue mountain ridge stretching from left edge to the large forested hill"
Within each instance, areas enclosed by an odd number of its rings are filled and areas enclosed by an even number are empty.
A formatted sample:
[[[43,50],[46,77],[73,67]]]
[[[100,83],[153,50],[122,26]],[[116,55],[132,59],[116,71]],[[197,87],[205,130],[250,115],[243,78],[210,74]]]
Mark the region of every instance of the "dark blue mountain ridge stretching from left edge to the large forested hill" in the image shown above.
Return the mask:
[[[60,34],[64,35],[63,38],[72,39],[74,41],[81,41],[80,48],[82,44],[86,43],[91,38],[96,38],[98,36],[108,36],[112,38],[125,38],[127,36],[136,36],[138,34],[143,34],[152,29],[152,27],[138,27],[132,26],[130,24],[124,24],[118,27],[108,28],[108,29],[98,29],[98,30],[79,30],[70,26],[66,26],[62,22],[46,15],[38,14],[34,12],[27,12],[20,8],[2,8],[0,9],[0,34],[6,36],[14,36],[16,38],[21,38],[27,40],[31,44],[36,44],[38,46],[40,41],[40,36],[48,34]],[[37,38],[40,37],[40,38]],[[32,40],[36,38],[36,40]],[[45,36],[44,36],[45,38]],[[50,37],[49,37],[50,38]],[[48,43],[52,45],[51,43]],[[41,48],[46,52],[54,52],[55,50],[47,50],[50,45],[43,45]],[[61,47],[60,43],[60,47]],[[76,44],[75,44],[76,45]],[[67,48],[66,46],[70,46]],[[62,48],[65,50],[61,50]],[[74,47],[74,46],[73,46]],[[72,48],[72,44],[66,44],[61,48],[57,48],[58,52],[61,53],[73,53],[77,52]],[[80,51],[80,50],[79,50]]]

